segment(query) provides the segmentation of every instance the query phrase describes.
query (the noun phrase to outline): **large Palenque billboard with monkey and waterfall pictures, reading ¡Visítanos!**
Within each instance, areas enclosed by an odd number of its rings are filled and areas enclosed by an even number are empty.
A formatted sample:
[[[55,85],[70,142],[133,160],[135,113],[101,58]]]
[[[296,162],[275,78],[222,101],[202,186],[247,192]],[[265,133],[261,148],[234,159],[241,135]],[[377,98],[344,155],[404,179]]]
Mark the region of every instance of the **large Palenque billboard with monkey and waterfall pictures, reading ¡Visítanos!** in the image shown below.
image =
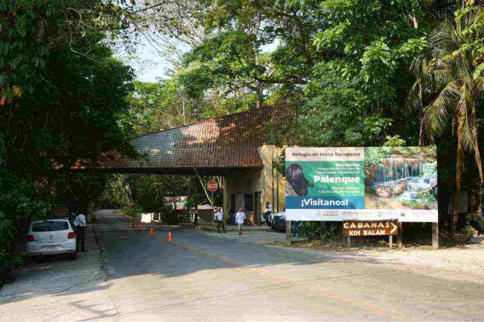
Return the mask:
[[[286,148],[288,220],[437,222],[437,149]]]

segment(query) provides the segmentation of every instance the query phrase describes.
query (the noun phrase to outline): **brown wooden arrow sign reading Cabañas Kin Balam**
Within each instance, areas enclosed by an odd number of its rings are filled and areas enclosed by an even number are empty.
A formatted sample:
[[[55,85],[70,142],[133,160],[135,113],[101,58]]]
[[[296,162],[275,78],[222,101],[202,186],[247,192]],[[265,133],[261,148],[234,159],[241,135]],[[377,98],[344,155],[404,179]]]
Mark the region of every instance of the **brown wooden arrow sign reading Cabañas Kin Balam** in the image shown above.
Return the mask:
[[[397,219],[381,221],[345,221],[343,222],[343,234],[351,237],[397,235],[397,221]]]

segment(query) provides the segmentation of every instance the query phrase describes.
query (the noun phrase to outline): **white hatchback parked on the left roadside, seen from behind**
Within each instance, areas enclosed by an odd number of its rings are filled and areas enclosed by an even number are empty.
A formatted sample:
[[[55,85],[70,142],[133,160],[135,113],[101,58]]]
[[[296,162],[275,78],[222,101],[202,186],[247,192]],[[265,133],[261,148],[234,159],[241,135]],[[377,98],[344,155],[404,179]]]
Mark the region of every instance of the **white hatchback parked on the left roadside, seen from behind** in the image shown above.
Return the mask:
[[[27,233],[27,256],[69,254],[75,260],[76,240],[67,218],[34,221]]]

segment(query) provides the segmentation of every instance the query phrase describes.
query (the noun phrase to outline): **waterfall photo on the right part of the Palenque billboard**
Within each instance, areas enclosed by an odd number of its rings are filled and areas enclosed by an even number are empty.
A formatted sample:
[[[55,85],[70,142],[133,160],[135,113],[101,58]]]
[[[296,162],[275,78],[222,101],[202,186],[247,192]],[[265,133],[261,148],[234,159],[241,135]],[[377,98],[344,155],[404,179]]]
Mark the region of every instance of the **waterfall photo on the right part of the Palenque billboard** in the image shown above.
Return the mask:
[[[437,210],[437,149],[366,147],[365,208]]]

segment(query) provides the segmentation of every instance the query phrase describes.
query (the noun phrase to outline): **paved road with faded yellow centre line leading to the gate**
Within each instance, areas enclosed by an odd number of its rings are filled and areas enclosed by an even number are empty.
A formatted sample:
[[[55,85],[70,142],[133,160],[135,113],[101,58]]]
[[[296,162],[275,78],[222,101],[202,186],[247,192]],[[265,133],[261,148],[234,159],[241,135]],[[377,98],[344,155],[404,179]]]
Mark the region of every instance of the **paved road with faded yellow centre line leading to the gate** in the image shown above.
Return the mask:
[[[90,253],[84,267],[94,277],[68,290],[25,294],[7,287],[0,319],[482,320],[480,283],[198,230],[171,231],[169,243],[166,230],[155,229],[154,236],[132,230],[114,211],[100,210],[96,218],[100,252],[95,262]]]

